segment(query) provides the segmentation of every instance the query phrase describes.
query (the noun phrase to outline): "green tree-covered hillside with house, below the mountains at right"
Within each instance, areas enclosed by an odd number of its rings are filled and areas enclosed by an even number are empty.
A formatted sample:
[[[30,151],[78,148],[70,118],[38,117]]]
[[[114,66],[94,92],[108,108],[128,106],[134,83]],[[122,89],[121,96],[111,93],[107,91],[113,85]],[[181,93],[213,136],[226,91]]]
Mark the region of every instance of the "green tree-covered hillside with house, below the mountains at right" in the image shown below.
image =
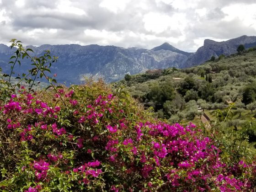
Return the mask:
[[[234,111],[238,115],[233,120],[239,119],[240,122],[236,123],[241,126],[247,117],[255,116],[252,112],[256,109],[256,51],[250,50],[192,68],[165,69],[160,76],[133,75],[130,80],[112,85],[124,86],[124,90],[145,107],[153,107],[156,117],[169,119],[170,123],[196,120],[202,115],[197,109],[199,107],[216,110],[235,103],[234,107],[239,109]],[[207,81],[206,76],[210,76],[212,82]],[[210,113],[212,111],[209,111],[209,116]],[[246,117],[241,117],[246,113]],[[200,118],[196,122],[200,123]]]

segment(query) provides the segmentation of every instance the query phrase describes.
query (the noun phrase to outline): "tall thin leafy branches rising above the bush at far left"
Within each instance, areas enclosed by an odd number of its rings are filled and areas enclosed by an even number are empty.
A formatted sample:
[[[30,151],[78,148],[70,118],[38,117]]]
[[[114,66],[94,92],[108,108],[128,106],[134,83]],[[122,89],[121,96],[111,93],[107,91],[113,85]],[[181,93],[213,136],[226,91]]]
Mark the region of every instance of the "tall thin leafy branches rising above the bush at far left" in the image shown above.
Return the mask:
[[[11,98],[12,94],[16,93],[16,88],[20,88],[21,82],[25,81],[28,85],[28,93],[30,93],[33,90],[33,86],[35,86],[35,80],[39,77],[42,79],[43,77],[48,80],[50,85],[46,88],[46,90],[50,87],[52,87],[56,93],[58,93],[58,88],[62,88],[61,86],[55,86],[53,83],[57,84],[56,79],[53,79],[47,75],[48,73],[51,73],[51,66],[52,63],[57,62],[58,57],[51,56],[50,51],[47,50],[43,54],[43,56],[40,56],[37,58],[36,56],[32,56],[29,52],[34,53],[34,51],[31,48],[24,48],[22,46],[21,41],[16,41],[16,39],[12,39],[10,41],[11,44],[11,49],[16,48],[15,54],[11,56],[9,64],[11,64],[11,73],[10,75],[4,74],[2,75],[2,84],[4,85],[1,87],[0,91],[0,99],[6,102],[8,98]],[[21,59],[30,59],[32,64],[31,69],[28,69],[27,74],[22,74],[22,77],[18,75],[15,79],[19,79],[17,83],[12,84],[11,83],[11,76],[15,74],[14,69],[17,64],[21,67]],[[8,77],[8,81],[4,80],[4,78]],[[64,103],[64,99],[62,96],[59,97],[60,100]]]

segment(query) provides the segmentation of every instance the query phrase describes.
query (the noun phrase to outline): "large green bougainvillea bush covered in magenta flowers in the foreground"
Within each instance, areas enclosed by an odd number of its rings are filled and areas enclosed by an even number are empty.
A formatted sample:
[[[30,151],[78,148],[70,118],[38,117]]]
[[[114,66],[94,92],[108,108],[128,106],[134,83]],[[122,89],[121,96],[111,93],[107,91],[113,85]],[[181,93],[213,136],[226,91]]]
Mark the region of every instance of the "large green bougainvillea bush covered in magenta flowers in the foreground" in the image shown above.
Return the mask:
[[[64,102],[60,100],[63,98]],[[253,191],[256,163],[223,160],[193,124],[150,117],[103,82],[0,105],[2,191]]]

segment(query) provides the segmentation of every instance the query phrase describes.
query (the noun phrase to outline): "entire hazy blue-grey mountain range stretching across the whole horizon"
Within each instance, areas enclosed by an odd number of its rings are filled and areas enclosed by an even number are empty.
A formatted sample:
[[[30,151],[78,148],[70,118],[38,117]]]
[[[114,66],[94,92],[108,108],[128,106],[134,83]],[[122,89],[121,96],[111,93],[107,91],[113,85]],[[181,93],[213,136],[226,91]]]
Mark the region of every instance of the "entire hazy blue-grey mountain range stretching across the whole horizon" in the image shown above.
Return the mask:
[[[169,43],[152,48],[121,48],[116,46],[87,45],[41,45],[27,46],[34,50],[34,55],[41,56],[45,50],[58,56],[58,62],[52,65],[52,74],[57,74],[59,83],[80,84],[84,76],[103,78],[106,82],[123,79],[125,74],[138,74],[148,69],[165,69],[169,67],[187,68],[202,64],[212,56],[230,55],[236,53],[236,48],[244,44],[245,48],[256,46],[256,37],[241,36],[224,42],[206,39],[196,53],[181,51]],[[5,73],[10,73],[9,58],[15,49],[0,44],[0,67]],[[24,61],[16,67],[19,74],[30,69],[31,62]]]

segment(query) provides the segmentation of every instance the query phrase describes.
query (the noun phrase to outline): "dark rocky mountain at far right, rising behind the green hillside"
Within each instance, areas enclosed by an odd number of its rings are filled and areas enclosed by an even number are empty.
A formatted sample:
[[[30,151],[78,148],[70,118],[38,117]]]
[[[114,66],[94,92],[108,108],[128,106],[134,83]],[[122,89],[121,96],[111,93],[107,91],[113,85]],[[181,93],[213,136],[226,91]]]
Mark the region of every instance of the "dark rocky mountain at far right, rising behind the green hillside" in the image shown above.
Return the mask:
[[[203,46],[197,49],[196,53],[191,54],[187,61],[181,65],[181,68],[191,67],[198,64],[203,64],[209,60],[212,56],[218,58],[219,55],[230,55],[237,53],[237,47],[243,44],[245,48],[251,48],[256,46],[256,36],[241,36],[228,41],[216,42],[210,39],[205,39]]]

